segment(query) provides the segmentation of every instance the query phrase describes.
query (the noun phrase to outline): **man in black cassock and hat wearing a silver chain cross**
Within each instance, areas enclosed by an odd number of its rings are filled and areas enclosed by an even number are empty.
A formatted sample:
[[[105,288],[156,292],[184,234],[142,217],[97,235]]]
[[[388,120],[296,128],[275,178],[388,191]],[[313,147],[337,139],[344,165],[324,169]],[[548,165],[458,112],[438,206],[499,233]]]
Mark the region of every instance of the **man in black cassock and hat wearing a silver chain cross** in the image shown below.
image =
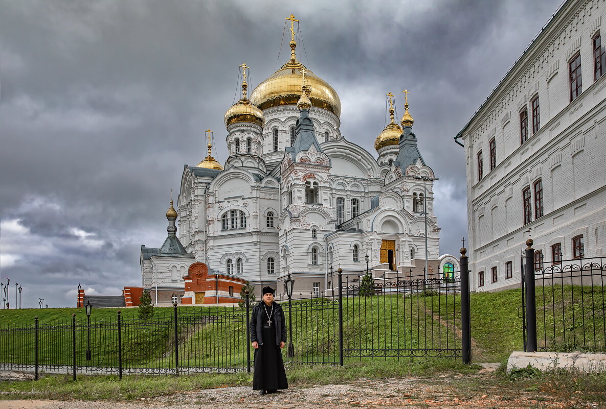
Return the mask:
[[[264,287],[263,299],[253,307],[250,319],[250,339],[255,348],[253,390],[261,394],[288,388],[281,352],[286,345],[286,323],[273,293],[271,287]]]

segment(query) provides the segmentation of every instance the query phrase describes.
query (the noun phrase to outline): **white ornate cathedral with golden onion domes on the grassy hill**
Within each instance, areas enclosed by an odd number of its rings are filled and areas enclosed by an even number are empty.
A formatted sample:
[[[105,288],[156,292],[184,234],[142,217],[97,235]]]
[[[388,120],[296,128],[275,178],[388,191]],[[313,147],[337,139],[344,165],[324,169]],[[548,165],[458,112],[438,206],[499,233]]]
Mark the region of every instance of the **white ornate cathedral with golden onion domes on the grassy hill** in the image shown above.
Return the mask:
[[[391,120],[375,158],[341,134],[339,96],[297,59],[296,20],[287,20],[290,59],[250,96],[241,66],[242,97],[225,113],[224,165],[209,130],[208,155],[184,166],[167,242],[141,247],[142,284],[156,299],[196,299],[183,281],[193,263],[249,281],[256,293],[277,286],[283,294],[290,274],[296,295],[315,296],[333,289],[339,267],[357,280],[367,270],[380,279],[458,266],[439,255],[437,179],[419,152],[407,94],[400,123],[387,95]]]

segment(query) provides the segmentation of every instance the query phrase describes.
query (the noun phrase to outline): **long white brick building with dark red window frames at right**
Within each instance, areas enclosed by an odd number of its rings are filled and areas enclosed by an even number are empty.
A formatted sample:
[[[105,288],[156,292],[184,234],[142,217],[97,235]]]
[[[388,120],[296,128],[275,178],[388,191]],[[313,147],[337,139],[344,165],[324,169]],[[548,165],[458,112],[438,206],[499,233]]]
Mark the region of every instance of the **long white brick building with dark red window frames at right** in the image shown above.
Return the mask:
[[[473,288],[519,285],[538,261],[604,255],[606,2],[570,0],[455,137],[467,161]]]

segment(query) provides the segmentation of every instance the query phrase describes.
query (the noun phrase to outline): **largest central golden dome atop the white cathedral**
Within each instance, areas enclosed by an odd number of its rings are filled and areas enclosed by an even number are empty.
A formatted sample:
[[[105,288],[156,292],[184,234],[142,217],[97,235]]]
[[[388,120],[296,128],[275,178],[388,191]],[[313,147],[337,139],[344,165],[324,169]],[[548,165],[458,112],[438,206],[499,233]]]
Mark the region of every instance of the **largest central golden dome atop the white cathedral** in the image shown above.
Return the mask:
[[[303,71],[307,85],[311,87],[309,94],[311,105],[315,108],[324,108],[336,116],[341,115],[341,100],[333,87],[296,59],[291,59],[272,76],[257,85],[250,97],[251,102],[261,110],[274,106],[297,105],[302,95]]]

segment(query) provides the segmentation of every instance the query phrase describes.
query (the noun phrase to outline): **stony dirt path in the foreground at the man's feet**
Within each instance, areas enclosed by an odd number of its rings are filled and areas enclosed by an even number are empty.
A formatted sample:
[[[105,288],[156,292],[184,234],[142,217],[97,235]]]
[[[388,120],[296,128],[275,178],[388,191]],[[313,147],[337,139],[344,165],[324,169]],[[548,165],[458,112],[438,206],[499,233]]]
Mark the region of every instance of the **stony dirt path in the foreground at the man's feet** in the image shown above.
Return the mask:
[[[507,389],[479,375],[439,375],[315,385],[259,396],[250,387],[183,391],[130,402],[0,401],[2,409],[311,409],[311,408],[565,408],[562,401],[539,392]],[[574,407],[594,407],[575,405]]]

